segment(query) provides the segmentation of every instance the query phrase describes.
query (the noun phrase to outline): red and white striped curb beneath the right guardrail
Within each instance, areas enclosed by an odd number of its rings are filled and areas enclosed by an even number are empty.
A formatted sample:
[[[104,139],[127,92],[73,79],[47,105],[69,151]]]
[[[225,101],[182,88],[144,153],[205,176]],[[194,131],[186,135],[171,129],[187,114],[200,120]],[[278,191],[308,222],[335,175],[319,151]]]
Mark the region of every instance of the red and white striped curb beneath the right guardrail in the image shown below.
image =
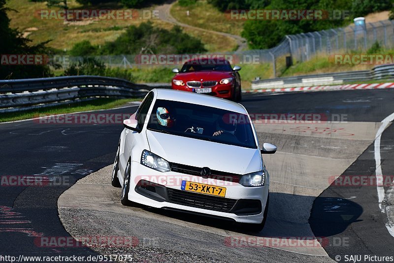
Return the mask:
[[[394,83],[372,83],[372,84],[346,84],[346,85],[326,85],[326,86],[307,86],[294,88],[261,89],[243,91],[244,93],[263,93],[263,92],[296,92],[296,91],[336,91],[336,90],[374,90],[391,89]]]

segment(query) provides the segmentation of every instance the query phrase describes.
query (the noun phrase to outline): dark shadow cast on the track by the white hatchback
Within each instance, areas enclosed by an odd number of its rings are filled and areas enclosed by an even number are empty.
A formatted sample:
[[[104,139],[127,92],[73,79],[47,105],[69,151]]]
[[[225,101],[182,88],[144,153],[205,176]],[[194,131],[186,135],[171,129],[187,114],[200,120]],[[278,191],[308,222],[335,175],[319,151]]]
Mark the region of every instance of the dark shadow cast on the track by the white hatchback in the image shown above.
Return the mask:
[[[315,200],[316,199],[316,200]],[[310,217],[315,200],[314,213],[324,214],[325,221]],[[357,222],[362,213],[360,205],[347,199],[310,197],[283,193],[270,193],[267,221],[261,232],[245,230],[243,224],[212,218],[204,215],[189,214],[174,210],[140,206],[165,217],[182,220],[202,226],[229,230],[248,235],[275,238],[328,237],[345,230],[352,222]],[[326,224],[329,224],[326,226]],[[319,225],[319,231],[312,232],[310,224]]]

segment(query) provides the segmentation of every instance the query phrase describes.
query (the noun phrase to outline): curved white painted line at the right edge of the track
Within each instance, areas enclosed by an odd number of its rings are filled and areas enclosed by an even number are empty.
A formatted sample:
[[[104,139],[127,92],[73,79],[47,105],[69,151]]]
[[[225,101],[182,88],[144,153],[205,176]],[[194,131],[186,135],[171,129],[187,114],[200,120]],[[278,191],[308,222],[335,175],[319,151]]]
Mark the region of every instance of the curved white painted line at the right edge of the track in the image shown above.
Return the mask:
[[[394,113],[390,114],[382,121],[382,125],[380,126],[378,132],[376,132],[375,144],[374,144],[375,165],[376,165],[375,166],[376,190],[378,192],[379,208],[382,213],[386,213],[386,209],[384,208],[382,209],[382,202],[385,197],[385,189],[383,187],[383,172],[382,172],[381,156],[380,156],[380,139],[382,137],[382,133],[386,130],[387,127],[389,127],[390,122],[393,122],[393,120],[394,120]],[[389,233],[394,237],[394,226],[391,226],[390,224],[386,224],[386,228],[389,231]]]

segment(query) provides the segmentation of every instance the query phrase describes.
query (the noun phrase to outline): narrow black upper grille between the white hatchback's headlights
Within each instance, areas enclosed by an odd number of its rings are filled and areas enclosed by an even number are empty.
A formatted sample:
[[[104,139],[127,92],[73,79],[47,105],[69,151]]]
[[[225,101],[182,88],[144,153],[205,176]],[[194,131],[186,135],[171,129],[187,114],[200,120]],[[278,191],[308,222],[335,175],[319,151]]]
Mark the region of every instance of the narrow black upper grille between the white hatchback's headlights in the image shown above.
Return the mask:
[[[186,165],[186,164],[175,164],[175,163],[170,163],[170,167],[171,167],[171,171],[174,171],[174,172],[201,176],[201,169],[202,168],[200,168],[200,167]],[[235,173],[211,170],[211,175],[207,176],[207,178],[238,183],[241,176],[242,175],[235,174]]]

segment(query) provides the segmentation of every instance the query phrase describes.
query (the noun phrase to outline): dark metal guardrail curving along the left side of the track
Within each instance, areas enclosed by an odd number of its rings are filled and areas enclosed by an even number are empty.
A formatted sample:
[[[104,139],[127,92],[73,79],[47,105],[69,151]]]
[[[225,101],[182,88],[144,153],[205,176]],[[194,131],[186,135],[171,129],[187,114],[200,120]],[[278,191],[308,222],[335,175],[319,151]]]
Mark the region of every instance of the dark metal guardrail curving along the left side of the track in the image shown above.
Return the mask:
[[[0,112],[54,106],[54,102],[77,102],[100,97],[136,98],[166,83],[135,84],[118,78],[67,76],[0,80]]]

